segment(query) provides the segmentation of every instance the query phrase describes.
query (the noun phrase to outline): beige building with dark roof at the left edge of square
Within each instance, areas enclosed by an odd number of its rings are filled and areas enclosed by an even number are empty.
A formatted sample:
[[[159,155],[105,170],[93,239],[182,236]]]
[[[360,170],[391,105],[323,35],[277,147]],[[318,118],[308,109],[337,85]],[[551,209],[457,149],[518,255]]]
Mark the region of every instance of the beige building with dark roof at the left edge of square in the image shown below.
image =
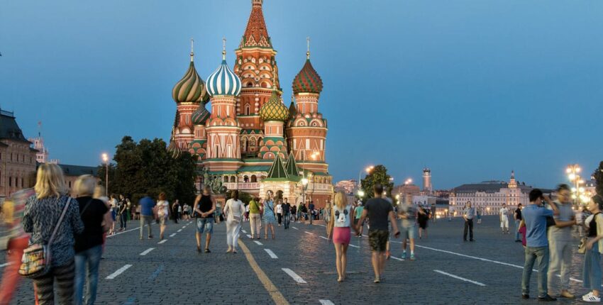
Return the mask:
[[[35,182],[35,154],[14,113],[0,110],[0,201]]]

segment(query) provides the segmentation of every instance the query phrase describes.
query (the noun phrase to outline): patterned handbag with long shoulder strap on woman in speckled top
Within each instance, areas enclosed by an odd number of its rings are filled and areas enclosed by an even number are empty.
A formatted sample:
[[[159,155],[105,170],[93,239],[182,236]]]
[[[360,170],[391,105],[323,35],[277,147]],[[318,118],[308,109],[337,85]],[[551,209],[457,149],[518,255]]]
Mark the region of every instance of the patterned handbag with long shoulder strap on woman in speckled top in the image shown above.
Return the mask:
[[[55,241],[55,235],[57,235],[57,231],[59,231],[59,227],[61,226],[63,218],[65,218],[65,214],[67,213],[70,203],[71,197],[67,199],[67,204],[65,204],[65,208],[63,208],[59,221],[57,221],[55,226],[55,230],[52,231],[52,235],[50,235],[48,245],[44,245],[43,243],[35,243],[23,250],[21,266],[19,267],[18,271],[19,275],[30,279],[35,279],[48,273],[50,266],[52,265],[52,251],[50,250],[50,247]]]

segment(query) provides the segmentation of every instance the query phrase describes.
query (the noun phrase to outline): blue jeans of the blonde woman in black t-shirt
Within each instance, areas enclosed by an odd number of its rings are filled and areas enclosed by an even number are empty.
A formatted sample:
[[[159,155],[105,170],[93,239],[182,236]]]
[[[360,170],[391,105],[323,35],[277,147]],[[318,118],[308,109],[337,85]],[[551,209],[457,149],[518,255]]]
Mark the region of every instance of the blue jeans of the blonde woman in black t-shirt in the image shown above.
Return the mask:
[[[99,284],[99,265],[102,254],[103,246],[97,245],[75,255],[74,304],[84,304],[84,277],[86,275],[88,275],[88,289],[85,304],[92,305],[96,301],[96,287]]]

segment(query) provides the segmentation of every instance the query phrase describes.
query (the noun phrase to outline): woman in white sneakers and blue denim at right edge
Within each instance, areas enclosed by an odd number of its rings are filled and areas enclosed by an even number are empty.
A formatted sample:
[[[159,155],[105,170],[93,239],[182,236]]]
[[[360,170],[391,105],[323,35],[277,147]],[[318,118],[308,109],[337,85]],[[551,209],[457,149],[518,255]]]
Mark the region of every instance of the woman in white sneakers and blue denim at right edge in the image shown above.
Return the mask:
[[[594,195],[587,206],[592,213],[585,220],[588,241],[582,267],[582,287],[590,289],[588,294],[582,296],[582,301],[600,302],[601,296],[601,253],[603,253],[603,197]]]

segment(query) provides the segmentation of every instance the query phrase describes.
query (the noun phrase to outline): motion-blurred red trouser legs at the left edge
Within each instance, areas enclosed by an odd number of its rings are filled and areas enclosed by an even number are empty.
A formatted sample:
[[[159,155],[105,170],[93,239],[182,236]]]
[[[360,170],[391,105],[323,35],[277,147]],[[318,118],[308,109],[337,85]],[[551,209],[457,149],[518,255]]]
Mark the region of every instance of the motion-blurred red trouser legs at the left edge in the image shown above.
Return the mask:
[[[18,275],[18,269],[21,265],[23,250],[27,248],[29,238],[13,238],[9,241],[9,256],[7,262],[11,263],[4,267],[4,274],[0,282],[0,304],[9,304],[13,299],[13,293],[16,291],[21,276]]]

